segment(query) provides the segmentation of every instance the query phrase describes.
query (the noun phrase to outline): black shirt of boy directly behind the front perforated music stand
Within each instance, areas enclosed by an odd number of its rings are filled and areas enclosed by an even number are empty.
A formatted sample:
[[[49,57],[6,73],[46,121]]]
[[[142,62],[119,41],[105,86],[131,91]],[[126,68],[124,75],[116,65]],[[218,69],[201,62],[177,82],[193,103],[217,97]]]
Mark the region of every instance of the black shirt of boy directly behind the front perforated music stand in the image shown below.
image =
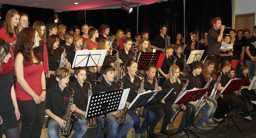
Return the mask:
[[[117,82],[112,82],[110,85],[106,82],[105,79],[103,79],[99,84],[97,84],[97,89],[95,89],[95,94],[98,94],[101,92],[114,91],[117,89],[120,89],[120,86]]]

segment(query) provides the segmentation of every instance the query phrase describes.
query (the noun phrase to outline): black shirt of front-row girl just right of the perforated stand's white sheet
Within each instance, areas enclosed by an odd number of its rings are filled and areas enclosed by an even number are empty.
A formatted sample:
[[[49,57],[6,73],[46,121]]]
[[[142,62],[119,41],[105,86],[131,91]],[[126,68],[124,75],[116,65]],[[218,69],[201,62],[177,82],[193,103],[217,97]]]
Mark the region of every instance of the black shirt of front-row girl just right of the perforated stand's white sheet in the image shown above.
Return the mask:
[[[131,82],[131,78],[128,73],[125,74],[125,76],[120,79],[124,83],[124,89],[130,88],[130,92],[127,98],[127,101],[129,103],[132,103],[134,98],[138,95],[138,90],[140,89],[140,83],[142,80],[140,78],[134,76],[133,83]]]

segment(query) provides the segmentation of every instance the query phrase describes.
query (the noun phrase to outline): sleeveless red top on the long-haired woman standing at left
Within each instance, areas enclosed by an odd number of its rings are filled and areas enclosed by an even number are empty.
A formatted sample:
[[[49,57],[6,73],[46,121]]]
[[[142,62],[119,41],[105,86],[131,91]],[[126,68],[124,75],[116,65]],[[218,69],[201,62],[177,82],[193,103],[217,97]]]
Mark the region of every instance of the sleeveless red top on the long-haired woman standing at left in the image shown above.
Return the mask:
[[[42,84],[41,84],[41,78],[42,78],[42,72],[43,72],[43,65],[41,62],[39,64],[32,63],[30,66],[23,66],[23,72],[24,72],[24,79],[28,83],[28,85],[31,87],[31,89],[40,96],[42,93]],[[18,83],[16,82],[16,89],[15,89],[16,97],[20,101],[28,101],[32,100],[33,97],[30,96]]]

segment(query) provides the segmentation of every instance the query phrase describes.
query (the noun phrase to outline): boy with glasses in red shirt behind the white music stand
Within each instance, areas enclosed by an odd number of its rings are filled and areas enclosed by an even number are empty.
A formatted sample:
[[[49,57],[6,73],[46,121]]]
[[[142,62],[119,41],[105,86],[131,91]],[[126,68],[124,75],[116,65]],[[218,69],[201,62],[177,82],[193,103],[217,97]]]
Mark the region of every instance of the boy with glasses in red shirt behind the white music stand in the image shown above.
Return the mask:
[[[84,42],[83,48],[88,50],[97,50],[98,42],[96,41],[96,38],[99,37],[98,29],[92,27],[89,29],[88,35],[90,36],[90,39]]]

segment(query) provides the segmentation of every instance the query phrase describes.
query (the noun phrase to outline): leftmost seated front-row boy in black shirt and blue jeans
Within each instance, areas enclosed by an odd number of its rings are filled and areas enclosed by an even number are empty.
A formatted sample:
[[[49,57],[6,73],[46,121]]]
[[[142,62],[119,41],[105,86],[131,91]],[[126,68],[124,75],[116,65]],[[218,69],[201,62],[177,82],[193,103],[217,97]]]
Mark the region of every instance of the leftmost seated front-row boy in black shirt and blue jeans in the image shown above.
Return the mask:
[[[45,113],[49,116],[47,121],[49,138],[60,138],[60,128],[65,128],[69,123],[63,120],[67,109],[70,108],[72,112],[78,110],[75,104],[68,107],[70,95],[72,94],[72,91],[66,85],[69,82],[69,70],[67,68],[58,68],[55,76],[58,84],[48,88],[46,93]],[[78,122],[74,123],[72,130],[75,131],[72,137],[82,138],[87,130],[87,123],[78,119]]]

